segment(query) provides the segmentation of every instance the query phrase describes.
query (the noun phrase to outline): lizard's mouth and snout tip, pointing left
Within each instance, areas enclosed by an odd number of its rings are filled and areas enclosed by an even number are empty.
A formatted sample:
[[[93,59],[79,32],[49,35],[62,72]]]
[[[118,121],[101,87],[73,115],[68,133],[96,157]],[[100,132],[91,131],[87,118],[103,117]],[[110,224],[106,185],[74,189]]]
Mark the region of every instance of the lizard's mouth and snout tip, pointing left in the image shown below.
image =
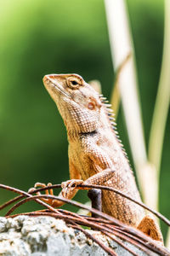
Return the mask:
[[[45,75],[42,79],[43,84],[47,88],[47,90],[55,90],[60,94],[63,94],[67,97],[70,97],[68,93],[64,90],[63,86],[61,86],[55,79],[56,74],[50,74],[50,75]]]

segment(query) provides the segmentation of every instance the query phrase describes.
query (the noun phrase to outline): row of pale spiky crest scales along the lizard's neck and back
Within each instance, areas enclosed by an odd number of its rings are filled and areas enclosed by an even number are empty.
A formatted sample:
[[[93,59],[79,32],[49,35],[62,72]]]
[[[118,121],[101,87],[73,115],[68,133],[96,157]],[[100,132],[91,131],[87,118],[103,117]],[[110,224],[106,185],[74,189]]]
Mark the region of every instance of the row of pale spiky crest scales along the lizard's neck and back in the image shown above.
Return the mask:
[[[118,135],[118,131],[116,131],[116,130],[117,130],[117,128],[116,128],[116,122],[115,122],[116,119],[115,119],[115,117],[114,117],[114,116],[115,116],[115,113],[113,113],[113,110],[111,109],[111,104],[108,104],[109,101],[107,100],[106,97],[103,96],[103,94],[100,94],[100,95],[99,95],[99,98],[100,98],[100,101],[102,102],[102,104],[105,105],[106,114],[108,115],[108,117],[109,117],[109,119],[110,119],[111,127],[112,127],[112,129],[113,129],[113,131],[114,131],[114,133],[115,133],[115,135],[116,135],[116,139],[117,139],[118,143],[120,144],[120,146],[121,146],[121,148],[122,148],[123,154],[125,155],[125,157],[126,157],[127,160],[128,160],[126,150],[125,150],[125,148],[124,148],[124,146],[123,146],[123,144],[122,144],[122,140],[120,140],[120,137],[119,137],[119,135]],[[129,161],[129,160],[128,160],[128,161]]]

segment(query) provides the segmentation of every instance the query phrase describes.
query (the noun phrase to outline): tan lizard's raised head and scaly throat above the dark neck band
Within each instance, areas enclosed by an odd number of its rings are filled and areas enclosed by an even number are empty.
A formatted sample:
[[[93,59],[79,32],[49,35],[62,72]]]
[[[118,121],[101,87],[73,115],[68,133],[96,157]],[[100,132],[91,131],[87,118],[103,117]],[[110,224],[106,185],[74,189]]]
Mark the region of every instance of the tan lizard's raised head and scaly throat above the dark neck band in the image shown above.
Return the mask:
[[[87,133],[98,128],[102,107],[99,94],[77,74],[49,74],[43,84],[53,98],[68,133]]]

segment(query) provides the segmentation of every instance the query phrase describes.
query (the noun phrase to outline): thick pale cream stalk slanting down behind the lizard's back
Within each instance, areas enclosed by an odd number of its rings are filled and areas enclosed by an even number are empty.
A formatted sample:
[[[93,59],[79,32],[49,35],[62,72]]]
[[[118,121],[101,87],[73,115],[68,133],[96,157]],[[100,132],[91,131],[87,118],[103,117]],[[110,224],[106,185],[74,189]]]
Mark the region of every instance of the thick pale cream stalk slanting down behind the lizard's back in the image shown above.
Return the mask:
[[[114,67],[117,69],[122,65],[127,55],[133,53],[127,9],[123,0],[105,0],[105,9],[109,27],[112,60]],[[151,198],[155,193],[152,191],[157,189],[156,177],[152,166],[147,164],[133,55],[123,67],[122,73],[119,75],[118,85],[122,97],[122,106],[134,166],[139,179],[139,187],[144,196],[144,201],[149,203],[151,207],[156,208],[156,203]],[[150,177],[153,181],[151,184]]]

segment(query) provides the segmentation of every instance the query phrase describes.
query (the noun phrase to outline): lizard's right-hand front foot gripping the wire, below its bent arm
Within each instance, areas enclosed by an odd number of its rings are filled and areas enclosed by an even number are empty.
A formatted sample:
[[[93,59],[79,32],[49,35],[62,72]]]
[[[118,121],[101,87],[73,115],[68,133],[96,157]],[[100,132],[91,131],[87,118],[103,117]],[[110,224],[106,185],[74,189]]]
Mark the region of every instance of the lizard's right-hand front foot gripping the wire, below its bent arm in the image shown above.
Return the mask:
[[[71,198],[72,194],[75,194],[77,191],[77,185],[81,185],[83,183],[82,179],[70,179],[66,182],[61,183],[61,194],[65,198]]]

